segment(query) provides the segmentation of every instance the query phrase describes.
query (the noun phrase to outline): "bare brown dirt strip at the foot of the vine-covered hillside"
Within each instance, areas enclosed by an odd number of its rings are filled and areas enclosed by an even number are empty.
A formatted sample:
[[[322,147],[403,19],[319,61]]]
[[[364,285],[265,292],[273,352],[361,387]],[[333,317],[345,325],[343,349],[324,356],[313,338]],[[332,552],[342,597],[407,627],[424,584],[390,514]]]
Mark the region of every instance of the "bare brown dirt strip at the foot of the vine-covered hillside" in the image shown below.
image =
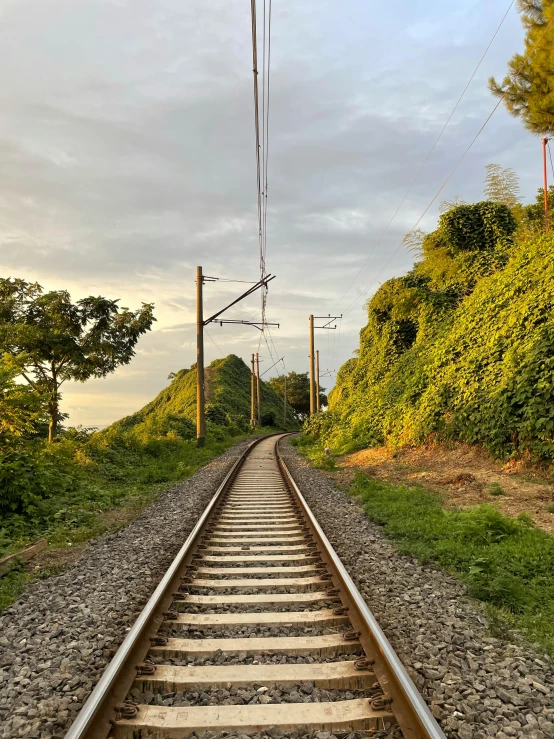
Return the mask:
[[[337,461],[341,469],[331,474],[345,484],[359,469],[380,480],[422,485],[452,506],[491,503],[508,516],[528,513],[539,528],[554,533],[554,512],[548,510],[554,505],[552,478],[522,463],[502,465],[475,447],[430,444],[396,452],[379,447]]]

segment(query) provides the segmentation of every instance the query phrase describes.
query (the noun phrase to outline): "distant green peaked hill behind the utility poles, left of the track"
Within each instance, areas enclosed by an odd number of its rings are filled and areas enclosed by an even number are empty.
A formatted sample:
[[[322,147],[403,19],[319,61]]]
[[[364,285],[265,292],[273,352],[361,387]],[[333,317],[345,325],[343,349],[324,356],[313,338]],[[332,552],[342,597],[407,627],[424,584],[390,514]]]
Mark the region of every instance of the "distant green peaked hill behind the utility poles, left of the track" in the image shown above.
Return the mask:
[[[283,428],[283,399],[261,381],[262,425]],[[250,423],[250,368],[234,354],[216,359],[206,368],[206,419],[208,423],[246,431]],[[287,419],[295,426],[294,411]],[[140,411],[116,421],[110,431],[133,431],[139,437],[195,435],[196,365],[175,374],[171,384]]]

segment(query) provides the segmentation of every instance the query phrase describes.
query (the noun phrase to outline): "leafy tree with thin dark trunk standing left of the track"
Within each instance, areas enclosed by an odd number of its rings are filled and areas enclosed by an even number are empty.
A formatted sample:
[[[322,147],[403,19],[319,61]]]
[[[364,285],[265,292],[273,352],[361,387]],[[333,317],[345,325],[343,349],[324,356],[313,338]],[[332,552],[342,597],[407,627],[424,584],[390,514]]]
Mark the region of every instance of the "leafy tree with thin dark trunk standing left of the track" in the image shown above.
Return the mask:
[[[0,354],[11,357],[45,404],[48,440],[57,435],[60,386],[105,377],[134,356],[141,334],[152,326],[153,305],[137,311],[103,297],[71,302],[65,290],[43,292],[37,283],[0,279]]]

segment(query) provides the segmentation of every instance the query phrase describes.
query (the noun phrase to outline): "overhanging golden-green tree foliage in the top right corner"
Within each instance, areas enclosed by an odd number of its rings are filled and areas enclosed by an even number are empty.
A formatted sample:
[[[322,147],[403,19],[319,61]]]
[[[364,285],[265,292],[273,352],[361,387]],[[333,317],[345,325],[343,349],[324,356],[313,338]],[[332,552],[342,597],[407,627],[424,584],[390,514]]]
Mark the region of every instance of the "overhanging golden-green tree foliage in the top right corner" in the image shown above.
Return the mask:
[[[536,134],[554,133],[554,0],[518,0],[525,51],[508,62],[508,74],[489,89]]]

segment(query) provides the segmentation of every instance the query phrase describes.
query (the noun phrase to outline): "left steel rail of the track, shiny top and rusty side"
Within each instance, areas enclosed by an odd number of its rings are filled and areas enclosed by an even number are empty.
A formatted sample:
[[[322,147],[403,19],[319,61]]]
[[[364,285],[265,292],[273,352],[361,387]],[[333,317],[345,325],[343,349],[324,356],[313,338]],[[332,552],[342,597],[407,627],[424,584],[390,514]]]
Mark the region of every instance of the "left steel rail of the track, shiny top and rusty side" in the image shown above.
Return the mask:
[[[266,439],[267,436],[268,435],[261,436],[259,439],[256,439],[249,444],[235,464],[231,467],[229,472],[225,475],[223,482],[220,484],[213,498],[208,503],[204,513],[198,519],[196,526],[188,535],[185,543],[158,584],[158,587],[150,596],[146,606],[141,611],[139,617],[131,627],[131,630],[125,637],[111,662],[108,664],[106,670],[103,672],[102,677],[96,684],[87,702],[65,735],[65,739],[83,739],[84,737],[107,736],[111,728],[110,719],[114,713],[114,704],[120,702],[125,697],[125,693],[129,687],[128,685],[123,685],[120,691],[115,691],[118,678],[120,678],[121,675],[129,669],[132,671],[132,677],[134,678],[136,674],[135,664],[137,661],[141,660],[141,656],[137,655],[137,651],[140,650],[141,647],[144,647],[146,651],[148,650],[148,647],[150,646],[149,637],[152,624],[155,620],[158,620],[158,622],[161,623],[162,618],[160,617],[160,613],[167,609],[167,601],[171,602],[173,590],[171,588],[172,583],[177,578],[180,578],[180,572],[186,563],[187,556],[191,554],[191,549],[196,543],[199,535],[202,533],[202,530],[205,528],[208,519],[221,498],[222,493],[234,480],[238,470],[253,447],[259,444],[262,439]],[[273,436],[273,434],[269,434],[269,436]],[[132,679],[130,682],[132,683]],[[119,692],[123,693],[122,697],[119,694],[116,694]]]

